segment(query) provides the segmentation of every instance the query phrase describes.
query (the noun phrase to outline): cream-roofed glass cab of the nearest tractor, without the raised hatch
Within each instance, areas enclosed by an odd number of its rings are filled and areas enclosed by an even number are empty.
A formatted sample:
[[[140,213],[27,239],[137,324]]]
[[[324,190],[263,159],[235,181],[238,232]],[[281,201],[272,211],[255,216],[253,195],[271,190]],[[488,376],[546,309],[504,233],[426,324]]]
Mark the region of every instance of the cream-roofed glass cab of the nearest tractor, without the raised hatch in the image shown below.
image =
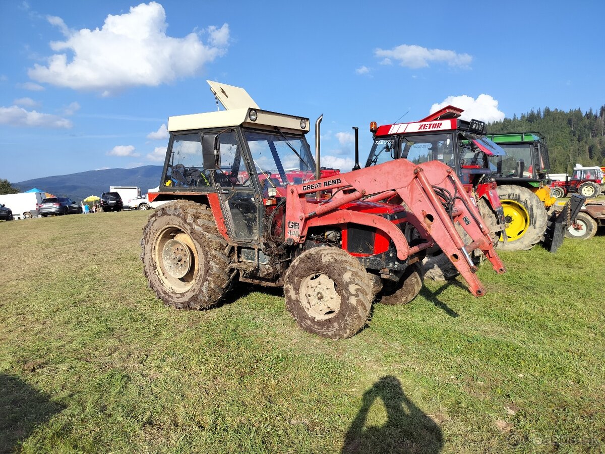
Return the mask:
[[[266,206],[286,195],[286,185],[315,180],[304,117],[244,108],[170,117],[168,129],[161,197],[218,197],[237,242],[260,241]]]

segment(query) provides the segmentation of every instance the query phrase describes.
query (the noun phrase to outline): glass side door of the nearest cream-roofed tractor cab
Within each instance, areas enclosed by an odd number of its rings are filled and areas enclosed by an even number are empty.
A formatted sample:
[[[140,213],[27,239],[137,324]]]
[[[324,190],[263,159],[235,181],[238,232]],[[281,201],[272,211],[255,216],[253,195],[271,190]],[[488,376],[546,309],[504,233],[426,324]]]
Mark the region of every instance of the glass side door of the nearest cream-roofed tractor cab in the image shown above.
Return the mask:
[[[215,169],[213,178],[227,228],[231,237],[239,242],[258,243],[263,200],[255,193],[253,173],[243,156],[244,148],[235,129],[217,137],[220,168]]]

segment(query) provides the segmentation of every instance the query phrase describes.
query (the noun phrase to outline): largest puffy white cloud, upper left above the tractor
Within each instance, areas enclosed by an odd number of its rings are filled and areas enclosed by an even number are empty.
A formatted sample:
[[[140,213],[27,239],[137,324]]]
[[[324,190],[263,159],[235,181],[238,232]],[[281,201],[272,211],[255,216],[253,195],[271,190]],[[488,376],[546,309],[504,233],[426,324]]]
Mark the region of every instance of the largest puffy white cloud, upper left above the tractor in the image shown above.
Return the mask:
[[[70,30],[61,18],[47,20],[65,35],[65,41],[51,42],[56,53],[47,66],[36,64],[28,75],[34,81],[99,91],[102,96],[194,76],[204,64],[223,55],[229,44],[228,24],[185,38],[167,36],[166,13],[156,2],[131,7],[123,15],[108,15],[100,30]],[[209,44],[200,40],[204,32]]]

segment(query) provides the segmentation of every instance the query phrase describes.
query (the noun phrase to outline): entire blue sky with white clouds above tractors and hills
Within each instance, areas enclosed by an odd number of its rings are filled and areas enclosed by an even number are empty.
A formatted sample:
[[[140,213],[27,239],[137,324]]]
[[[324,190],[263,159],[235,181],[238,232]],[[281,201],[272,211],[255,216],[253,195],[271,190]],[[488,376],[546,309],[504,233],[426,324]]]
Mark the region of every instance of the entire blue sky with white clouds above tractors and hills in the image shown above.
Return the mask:
[[[473,5],[476,10],[473,10]],[[322,122],[348,170],[370,121],[605,103],[605,2],[0,1],[0,178],[161,164],[206,79]],[[313,132],[307,140],[314,143]]]

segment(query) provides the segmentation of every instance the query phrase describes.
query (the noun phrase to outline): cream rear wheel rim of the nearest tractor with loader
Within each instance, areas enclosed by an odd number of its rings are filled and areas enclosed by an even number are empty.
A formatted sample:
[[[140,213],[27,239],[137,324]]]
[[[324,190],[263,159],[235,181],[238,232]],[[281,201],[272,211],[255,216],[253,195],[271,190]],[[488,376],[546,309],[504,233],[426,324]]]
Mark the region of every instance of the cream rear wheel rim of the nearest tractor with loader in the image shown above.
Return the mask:
[[[203,262],[191,237],[177,226],[167,226],[155,237],[154,262],[162,283],[175,292],[188,291]]]

